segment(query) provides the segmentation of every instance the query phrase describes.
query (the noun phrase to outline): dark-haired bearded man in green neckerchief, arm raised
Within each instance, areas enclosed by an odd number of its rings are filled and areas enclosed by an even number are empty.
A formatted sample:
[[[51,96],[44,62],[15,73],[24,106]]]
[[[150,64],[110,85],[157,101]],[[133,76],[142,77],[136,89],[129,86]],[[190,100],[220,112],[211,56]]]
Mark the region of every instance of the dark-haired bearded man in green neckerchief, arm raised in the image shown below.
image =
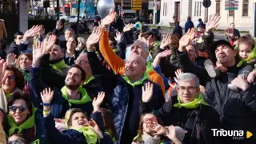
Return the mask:
[[[51,38],[51,37],[50,37]],[[48,41],[49,42],[49,41]],[[54,45],[54,41],[50,41],[48,45],[42,44],[38,41],[37,48],[33,51],[32,67],[30,68],[30,86],[34,92],[34,99],[38,99],[38,103],[41,105],[49,105],[50,111],[54,119],[62,119],[65,113],[70,108],[79,108],[86,112],[87,115],[93,111],[92,99],[87,94],[86,89],[80,87],[86,80],[86,72],[77,64],[70,67],[65,79],[65,86],[59,90],[56,87],[52,87],[54,90],[54,98],[51,103],[39,102],[40,92],[45,88],[49,88],[49,85],[42,81],[39,68],[39,59]],[[39,108],[39,107],[38,107]]]

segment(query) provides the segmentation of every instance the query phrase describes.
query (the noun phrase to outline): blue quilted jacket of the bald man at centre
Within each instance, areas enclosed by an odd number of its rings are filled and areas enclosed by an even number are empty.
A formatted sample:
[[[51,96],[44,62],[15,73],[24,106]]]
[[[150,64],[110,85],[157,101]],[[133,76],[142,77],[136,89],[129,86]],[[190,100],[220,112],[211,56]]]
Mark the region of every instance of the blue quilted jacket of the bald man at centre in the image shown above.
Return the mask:
[[[132,87],[123,80],[122,76],[114,75],[113,72],[102,66],[94,52],[88,53],[88,60],[94,77],[102,80],[102,88],[109,94],[109,109],[113,113],[114,126],[118,133],[117,143],[131,143],[138,130],[139,99],[142,96],[142,86],[147,82],[154,83],[145,80],[143,84]],[[154,84],[154,94],[150,103],[157,110],[164,102],[160,86]]]

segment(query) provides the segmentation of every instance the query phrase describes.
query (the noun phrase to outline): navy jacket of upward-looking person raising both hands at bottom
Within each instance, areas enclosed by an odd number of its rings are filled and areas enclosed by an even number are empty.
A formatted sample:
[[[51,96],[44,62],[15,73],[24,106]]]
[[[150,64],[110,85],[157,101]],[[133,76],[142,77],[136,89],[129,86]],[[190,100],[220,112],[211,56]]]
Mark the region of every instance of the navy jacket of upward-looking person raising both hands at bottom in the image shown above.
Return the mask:
[[[96,112],[94,114],[94,120],[102,130],[104,134],[102,113]],[[44,131],[49,143],[65,143],[65,144],[86,144],[86,137],[84,134],[78,132],[78,130],[64,130],[62,133],[55,128],[55,122],[52,115],[42,117],[42,130]],[[104,138],[100,139],[97,144],[112,144],[114,143],[108,134],[104,134]],[[41,144],[41,143],[40,143]]]

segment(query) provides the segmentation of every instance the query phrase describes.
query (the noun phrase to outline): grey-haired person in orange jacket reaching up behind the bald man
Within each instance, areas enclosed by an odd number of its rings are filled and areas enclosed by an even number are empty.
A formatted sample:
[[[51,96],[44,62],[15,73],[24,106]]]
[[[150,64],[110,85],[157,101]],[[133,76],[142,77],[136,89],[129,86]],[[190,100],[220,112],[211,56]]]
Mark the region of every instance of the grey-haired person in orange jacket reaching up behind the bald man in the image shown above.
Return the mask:
[[[112,11],[108,16],[106,16],[106,18],[102,20],[102,27],[106,28],[106,25],[110,25],[110,23],[114,21],[115,15],[116,13]],[[134,41],[134,43],[145,44],[142,41]],[[122,58],[120,58],[119,56],[117,56],[111,49],[108,32],[106,30],[103,31],[102,37],[99,41],[99,50],[102,53],[102,56],[108,62],[108,64],[110,64],[110,67],[113,69],[114,73],[119,73],[120,75],[124,75],[125,61],[122,60]],[[136,46],[132,46],[130,53],[142,56],[146,60],[147,57],[149,56],[149,49],[147,48],[146,44],[143,46],[136,45]],[[160,85],[162,92],[165,94],[165,85],[163,84],[162,77],[158,74],[158,72],[154,71],[152,67],[152,63],[149,61],[146,63],[146,72],[149,73],[150,80]]]

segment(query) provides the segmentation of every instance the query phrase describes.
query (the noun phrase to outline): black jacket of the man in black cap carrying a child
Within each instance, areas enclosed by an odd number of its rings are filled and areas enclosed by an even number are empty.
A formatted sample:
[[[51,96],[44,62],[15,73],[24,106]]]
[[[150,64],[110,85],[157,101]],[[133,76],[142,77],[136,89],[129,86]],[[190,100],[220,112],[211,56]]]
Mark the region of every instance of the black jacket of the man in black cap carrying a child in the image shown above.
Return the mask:
[[[180,53],[180,52],[179,52]],[[250,84],[245,91],[235,92],[227,88],[234,78],[238,76],[236,65],[228,67],[228,71],[221,76],[210,79],[206,69],[196,67],[189,60],[186,52],[177,55],[178,64],[182,72],[191,72],[198,76],[200,84],[206,86],[206,102],[209,103],[221,117],[221,127],[224,130],[249,130],[256,134],[256,86]],[[244,136],[245,137],[245,136]],[[244,143],[256,143],[254,138],[244,138]],[[239,143],[230,137],[222,137],[221,143]]]

